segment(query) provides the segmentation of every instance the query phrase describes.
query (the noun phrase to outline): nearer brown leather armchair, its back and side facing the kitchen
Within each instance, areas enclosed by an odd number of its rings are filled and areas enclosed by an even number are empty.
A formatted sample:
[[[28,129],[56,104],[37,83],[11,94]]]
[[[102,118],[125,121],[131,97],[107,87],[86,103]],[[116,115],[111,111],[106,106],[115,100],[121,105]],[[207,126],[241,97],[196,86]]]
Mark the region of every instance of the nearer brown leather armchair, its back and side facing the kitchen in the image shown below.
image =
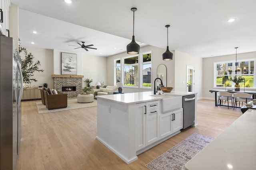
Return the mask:
[[[47,109],[59,109],[68,106],[68,94],[49,94],[46,90],[43,90],[43,92]]]

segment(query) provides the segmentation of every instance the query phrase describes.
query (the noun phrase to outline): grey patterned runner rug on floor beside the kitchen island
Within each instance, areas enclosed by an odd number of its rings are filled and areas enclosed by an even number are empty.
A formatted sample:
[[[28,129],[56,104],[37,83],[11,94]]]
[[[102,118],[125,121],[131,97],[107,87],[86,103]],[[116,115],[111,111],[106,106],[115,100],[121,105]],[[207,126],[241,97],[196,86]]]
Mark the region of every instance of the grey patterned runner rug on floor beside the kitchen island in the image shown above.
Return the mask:
[[[185,170],[185,164],[213,140],[212,137],[194,133],[146,164],[146,167],[150,170]]]

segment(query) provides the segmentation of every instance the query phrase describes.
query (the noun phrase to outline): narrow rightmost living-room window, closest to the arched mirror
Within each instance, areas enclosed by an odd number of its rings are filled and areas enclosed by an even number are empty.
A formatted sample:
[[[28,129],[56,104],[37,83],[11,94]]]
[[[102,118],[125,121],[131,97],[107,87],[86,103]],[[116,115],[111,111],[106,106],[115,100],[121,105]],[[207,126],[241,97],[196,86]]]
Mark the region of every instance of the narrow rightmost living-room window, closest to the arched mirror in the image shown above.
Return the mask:
[[[151,53],[142,54],[142,88],[151,88]]]

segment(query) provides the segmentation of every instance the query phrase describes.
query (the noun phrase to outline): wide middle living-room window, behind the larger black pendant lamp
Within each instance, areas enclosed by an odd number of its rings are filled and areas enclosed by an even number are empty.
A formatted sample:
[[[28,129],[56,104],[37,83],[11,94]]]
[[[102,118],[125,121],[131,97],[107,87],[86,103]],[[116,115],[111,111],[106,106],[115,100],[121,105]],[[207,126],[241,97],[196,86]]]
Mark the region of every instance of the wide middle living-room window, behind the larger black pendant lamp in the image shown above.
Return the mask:
[[[138,56],[124,58],[124,86],[138,87],[139,76]]]

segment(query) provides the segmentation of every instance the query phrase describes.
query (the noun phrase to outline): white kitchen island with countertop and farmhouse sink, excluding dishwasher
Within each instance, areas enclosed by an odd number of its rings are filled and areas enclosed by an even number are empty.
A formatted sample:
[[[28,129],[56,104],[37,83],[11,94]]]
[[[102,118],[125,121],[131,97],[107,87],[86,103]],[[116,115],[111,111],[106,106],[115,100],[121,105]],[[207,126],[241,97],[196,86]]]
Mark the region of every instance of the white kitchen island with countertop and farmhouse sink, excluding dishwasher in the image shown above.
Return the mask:
[[[182,96],[193,92],[113,94],[97,97],[97,137],[126,163],[183,128]],[[196,122],[196,100],[195,119]]]

